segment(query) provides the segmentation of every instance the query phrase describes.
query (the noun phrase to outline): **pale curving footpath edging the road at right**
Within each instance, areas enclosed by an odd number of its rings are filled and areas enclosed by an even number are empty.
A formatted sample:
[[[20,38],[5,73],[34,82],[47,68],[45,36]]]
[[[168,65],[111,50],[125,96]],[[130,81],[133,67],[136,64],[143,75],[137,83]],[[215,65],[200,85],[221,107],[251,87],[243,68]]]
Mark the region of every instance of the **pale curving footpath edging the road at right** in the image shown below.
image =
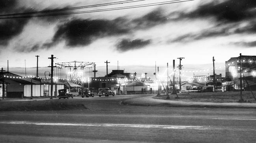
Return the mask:
[[[201,107],[201,108],[255,108],[256,103],[213,103],[190,102],[177,100],[161,100],[153,98],[155,95],[124,100],[123,104],[142,106],[166,106],[166,107]]]

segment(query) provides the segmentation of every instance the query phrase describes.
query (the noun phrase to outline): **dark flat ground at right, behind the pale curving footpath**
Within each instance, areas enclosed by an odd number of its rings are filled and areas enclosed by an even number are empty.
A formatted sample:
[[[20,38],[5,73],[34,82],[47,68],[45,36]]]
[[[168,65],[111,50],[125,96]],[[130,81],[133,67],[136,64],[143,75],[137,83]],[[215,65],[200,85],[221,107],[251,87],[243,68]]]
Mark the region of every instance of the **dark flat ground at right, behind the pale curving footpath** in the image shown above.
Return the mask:
[[[254,96],[256,96],[256,91],[253,91]],[[238,102],[240,100],[240,92],[200,92],[200,93],[186,93],[178,94],[179,99],[176,99],[176,94],[169,94],[169,100],[179,100],[179,101],[196,101],[196,102],[218,102],[218,103],[228,103],[228,102]],[[245,103],[256,103],[254,96],[250,91],[243,91],[242,98]],[[167,95],[155,96],[156,99],[167,100]]]

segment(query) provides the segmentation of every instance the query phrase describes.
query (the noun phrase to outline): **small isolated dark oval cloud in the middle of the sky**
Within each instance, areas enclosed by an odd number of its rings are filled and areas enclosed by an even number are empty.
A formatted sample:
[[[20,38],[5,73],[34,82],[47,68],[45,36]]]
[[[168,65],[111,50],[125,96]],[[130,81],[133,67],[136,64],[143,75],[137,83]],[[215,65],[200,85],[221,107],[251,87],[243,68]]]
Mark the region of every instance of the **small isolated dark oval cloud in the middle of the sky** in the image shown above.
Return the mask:
[[[125,52],[133,49],[140,49],[146,45],[149,45],[151,43],[151,40],[142,40],[142,39],[123,39],[116,45],[118,51]]]

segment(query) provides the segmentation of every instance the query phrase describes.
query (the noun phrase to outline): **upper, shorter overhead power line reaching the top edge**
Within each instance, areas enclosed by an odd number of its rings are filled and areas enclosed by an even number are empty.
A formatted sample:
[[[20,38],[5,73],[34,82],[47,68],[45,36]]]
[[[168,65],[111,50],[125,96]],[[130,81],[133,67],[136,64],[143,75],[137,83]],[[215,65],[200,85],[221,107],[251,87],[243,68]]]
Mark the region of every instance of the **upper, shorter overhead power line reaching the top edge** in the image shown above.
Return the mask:
[[[110,3],[105,3],[105,4],[86,5],[86,6],[79,6],[79,7],[69,7],[69,8],[62,8],[62,9],[32,11],[32,12],[26,12],[26,13],[0,14],[0,16],[13,16],[13,15],[24,15],[24,14],[35,14],[35,13],[49,13],[49,12],[55,12],[55,11],[67,11],[67,10],[73,10],[73,9],[84,9],[84,8],[89,8],[89,7],[99,7],[99,6],[107,6],[107,5],[125,4],[125,3],[130,3],[130,2],[139,2],[139,1],[145,1],[145,0],[125,0],[125,1],[119,1],[119,2],[110,2]]]

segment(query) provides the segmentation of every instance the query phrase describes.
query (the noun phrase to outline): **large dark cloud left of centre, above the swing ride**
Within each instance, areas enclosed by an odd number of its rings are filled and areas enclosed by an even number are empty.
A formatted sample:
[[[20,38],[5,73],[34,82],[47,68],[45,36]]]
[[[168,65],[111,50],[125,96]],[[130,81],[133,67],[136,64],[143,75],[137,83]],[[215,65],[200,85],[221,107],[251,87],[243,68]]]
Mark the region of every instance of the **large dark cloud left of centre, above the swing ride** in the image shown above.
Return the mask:
[[[83,46],[92,43],[97,38],[129,33],[129,28],[122,25],[120,21],[120,19],[71,20],[59,25],[52,42],[45,43],[44,46],[51,47],[63,40],[69,47]]]

